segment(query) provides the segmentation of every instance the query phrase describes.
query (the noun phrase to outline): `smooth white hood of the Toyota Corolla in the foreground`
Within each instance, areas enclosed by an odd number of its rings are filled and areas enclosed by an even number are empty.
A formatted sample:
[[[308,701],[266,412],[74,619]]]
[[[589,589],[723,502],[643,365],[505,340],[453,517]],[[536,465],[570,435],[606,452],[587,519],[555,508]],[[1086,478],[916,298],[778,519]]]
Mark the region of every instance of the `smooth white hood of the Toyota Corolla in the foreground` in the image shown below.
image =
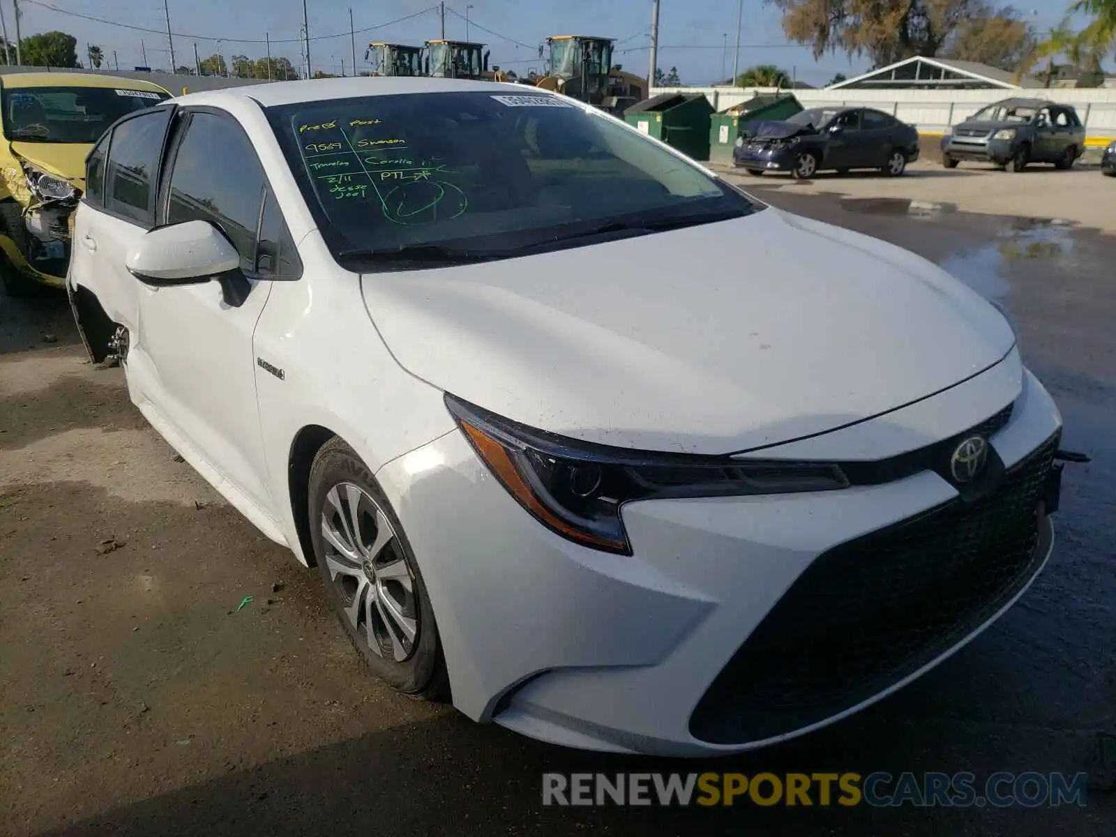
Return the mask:
[[[822,433],[950,387],[1014,345],[931,262],[772,208],[441,270],[366,273],[412,374],[555,433],[725,453]]]

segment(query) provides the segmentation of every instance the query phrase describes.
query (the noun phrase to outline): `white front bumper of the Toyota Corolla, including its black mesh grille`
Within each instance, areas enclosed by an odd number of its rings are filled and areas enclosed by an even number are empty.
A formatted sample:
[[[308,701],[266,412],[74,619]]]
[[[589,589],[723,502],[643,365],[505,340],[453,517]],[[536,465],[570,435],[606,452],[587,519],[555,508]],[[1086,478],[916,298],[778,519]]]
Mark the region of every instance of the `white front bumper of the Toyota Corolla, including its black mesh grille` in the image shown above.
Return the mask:
[[[987,378],[997,368],[955,389],[1003,393]],[[699,756],[802,734],[902,687],[999,617],[1050,554],[1060,417],[1029,373],[1013,379],[1010,422],[991,436],[1009,473],[985,500],[923,471],[631,503],[631,557],[538,525],[458,432],[388,463],[377,477],[422,568],[454,704],[555,743]],[[877,436],[964,396],[875,420]],[[863,442],[873,423],[847,433]],[[972,426],[946,424],[943,436]]]

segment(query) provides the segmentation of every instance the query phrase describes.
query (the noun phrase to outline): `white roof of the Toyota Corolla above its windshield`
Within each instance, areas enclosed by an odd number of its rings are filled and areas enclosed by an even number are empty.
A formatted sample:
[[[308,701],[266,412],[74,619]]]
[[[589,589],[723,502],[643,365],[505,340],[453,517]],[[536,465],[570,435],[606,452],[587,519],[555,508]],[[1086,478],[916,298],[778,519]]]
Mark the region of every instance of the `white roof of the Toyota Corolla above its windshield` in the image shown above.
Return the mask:
[[[504,95],[554,96],[549,90],[526,85],[462,78],[422,78],[405,76],[356,76],[348,78],[311,78],[302,81],[272,81],[262,85],[225,87],[180,96],[177,104],[220,104],[222,99],[252,99],[263,107],[294,105],[302,102],[325,102],[359,96],[395,96],[423,93],[490,92]]]

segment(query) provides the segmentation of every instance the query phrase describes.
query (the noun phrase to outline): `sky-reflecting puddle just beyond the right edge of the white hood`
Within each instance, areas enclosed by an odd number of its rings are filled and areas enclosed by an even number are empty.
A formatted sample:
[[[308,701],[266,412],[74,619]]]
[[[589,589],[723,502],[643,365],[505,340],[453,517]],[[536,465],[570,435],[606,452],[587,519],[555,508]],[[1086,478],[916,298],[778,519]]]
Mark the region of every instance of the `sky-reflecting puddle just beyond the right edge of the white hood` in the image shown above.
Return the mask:
[[[987,299],[999,299],[1011,290],[1004,277],[1010,262],[1052,259],[1072,252],[1069,230],[1040,219],[1017,219],[1020,223],[978,248],[946,256],[939,266]]]

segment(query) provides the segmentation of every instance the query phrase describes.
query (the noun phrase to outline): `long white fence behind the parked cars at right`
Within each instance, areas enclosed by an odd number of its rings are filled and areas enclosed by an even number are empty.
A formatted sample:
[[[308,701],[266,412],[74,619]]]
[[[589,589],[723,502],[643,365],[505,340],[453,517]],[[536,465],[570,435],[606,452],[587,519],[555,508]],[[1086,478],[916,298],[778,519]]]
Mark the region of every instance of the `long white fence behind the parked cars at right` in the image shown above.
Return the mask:
[[[724,110],[750,99],[758,93],[775,93],[773,87],[652,87],[651,95],[661,93],[703,93],[715,110]],[[786,92],[785,92],[786,93]],[[1116,89],[1050,88],[1020,90],[870,90],[838,88],[836,90],[793,90],[802,107],[875,107],[914,125],[923,134],[941,134],[963,122],[985,105],[1022,96],[1048,98],[1072,105],[1085,123],[1087,143],[1105,145],[1116,138]]]

